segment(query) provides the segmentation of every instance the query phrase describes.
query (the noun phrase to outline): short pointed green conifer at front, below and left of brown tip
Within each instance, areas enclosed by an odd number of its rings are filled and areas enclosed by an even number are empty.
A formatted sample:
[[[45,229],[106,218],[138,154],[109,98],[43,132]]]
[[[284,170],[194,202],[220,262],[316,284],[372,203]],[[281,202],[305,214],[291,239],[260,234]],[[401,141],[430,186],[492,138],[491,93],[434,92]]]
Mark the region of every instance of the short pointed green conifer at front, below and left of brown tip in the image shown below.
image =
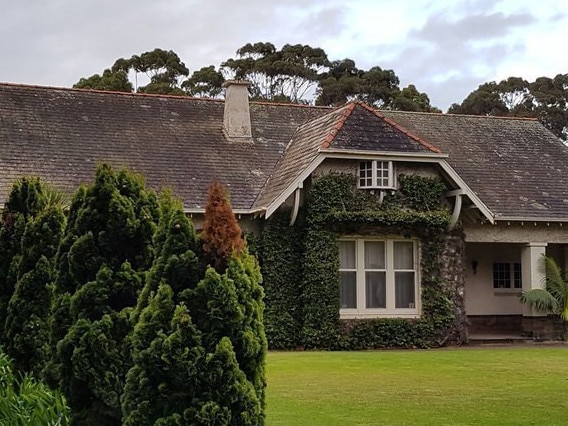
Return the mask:
[[[143,310],[132,340],[134,364],[123,394],[123,424],[198,424],[196,412],[206,390],[201,333],[185,306],[174,305],[168,284],[160,284]]]

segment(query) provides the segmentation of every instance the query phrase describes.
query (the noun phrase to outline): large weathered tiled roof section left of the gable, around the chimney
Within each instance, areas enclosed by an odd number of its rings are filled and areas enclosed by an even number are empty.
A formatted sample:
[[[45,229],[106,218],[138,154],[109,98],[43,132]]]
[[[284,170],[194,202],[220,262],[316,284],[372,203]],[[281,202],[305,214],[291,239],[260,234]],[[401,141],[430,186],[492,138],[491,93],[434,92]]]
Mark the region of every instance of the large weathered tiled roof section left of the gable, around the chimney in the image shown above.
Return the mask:
[[[0,84],[0,205],[21,176],[72,192],[108,162],[201,209],[212,180],[251,208],[295,129],[327,109],[251,103],[254,144],[223,134],[223,101]]]

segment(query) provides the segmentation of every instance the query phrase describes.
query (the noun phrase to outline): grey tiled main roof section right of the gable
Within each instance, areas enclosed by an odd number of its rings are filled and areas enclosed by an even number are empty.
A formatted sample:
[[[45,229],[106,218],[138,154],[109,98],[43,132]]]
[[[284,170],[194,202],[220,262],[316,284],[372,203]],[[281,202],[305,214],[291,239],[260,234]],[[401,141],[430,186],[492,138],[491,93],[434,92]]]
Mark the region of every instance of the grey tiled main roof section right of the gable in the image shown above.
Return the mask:
[[[568,219],[568,147],[532,119],[383,113],[448,153],[495,218]]]

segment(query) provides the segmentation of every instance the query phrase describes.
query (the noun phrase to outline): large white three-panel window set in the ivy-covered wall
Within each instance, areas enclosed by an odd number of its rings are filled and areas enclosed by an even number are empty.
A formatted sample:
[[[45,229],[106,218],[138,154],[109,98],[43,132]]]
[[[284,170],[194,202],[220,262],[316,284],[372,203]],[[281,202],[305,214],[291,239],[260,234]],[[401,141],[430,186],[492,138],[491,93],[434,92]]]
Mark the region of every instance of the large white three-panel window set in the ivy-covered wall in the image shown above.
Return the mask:
[[[345,239],[339,242],[343,318],[418,315],[416,242]]]

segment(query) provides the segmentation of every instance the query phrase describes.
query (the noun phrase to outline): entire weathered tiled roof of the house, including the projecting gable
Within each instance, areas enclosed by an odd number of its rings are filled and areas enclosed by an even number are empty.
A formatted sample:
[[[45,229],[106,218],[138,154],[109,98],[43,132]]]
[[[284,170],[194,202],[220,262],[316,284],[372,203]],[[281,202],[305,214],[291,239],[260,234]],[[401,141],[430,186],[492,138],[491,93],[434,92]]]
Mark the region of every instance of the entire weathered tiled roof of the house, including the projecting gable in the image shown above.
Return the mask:
[[[0,84],[0,206],[21,176],[72,192],[96,165],[127,166],[200,211],[212,180],[262,209],[326,152],[448,154],[496,218],[568,220],[568,148],[534,120],[250,104],[252,143],[229,141],[224,103]],[[321,157],[319,157],[321,158]]]

